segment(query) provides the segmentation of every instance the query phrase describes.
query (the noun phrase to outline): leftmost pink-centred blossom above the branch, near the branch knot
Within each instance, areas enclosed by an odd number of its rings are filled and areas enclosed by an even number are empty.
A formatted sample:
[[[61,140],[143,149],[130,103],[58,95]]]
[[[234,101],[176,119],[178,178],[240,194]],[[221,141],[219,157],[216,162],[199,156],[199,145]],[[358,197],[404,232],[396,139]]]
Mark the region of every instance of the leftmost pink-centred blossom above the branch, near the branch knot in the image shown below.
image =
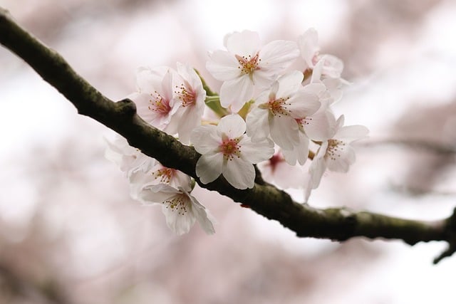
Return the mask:
[[[179,117],[179,103],[173,98],[172,75],[168,67],[139,68],[136,75],[138,92],[128,96],[136,103],[138,115],[154,127],[174,135]]]

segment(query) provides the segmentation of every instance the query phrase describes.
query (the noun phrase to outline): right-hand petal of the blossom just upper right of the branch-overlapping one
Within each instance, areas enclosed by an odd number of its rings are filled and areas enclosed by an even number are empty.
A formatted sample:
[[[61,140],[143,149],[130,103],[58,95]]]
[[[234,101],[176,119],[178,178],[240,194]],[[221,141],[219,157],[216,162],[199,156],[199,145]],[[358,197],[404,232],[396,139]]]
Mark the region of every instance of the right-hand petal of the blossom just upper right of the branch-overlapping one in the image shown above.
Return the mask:
[[[291,117],[302,118],[314,114],[321,107],[318,96],[299,90],[289,100],[286,109],[289,110]]]

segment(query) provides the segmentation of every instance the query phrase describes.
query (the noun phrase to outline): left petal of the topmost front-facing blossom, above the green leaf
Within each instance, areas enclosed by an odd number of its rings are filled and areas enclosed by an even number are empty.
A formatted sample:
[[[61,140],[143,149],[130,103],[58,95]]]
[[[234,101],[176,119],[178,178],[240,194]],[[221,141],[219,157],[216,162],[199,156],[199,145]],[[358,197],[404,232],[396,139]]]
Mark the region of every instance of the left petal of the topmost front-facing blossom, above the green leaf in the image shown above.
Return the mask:
[[[241,74],[236,57],[227,51],[214,51],[210,54],[206,68],[212,77],[222,81],[232,80]]]

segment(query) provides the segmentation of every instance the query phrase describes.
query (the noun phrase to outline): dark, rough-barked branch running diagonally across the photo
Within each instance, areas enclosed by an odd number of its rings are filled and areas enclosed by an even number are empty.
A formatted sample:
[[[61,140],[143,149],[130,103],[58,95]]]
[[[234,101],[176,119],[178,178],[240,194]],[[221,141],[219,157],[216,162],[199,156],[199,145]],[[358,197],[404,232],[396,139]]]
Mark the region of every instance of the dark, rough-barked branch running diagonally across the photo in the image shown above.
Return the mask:
[[[315,209],[297,203],[289,194],[262,179],[257,179],[255,187],[247,190],[234,189],[223,177],[202,184],[195,174],[199,158],[195,149],[182,145],[174,137],[144,122],[136,114],[135,104],[131,100],[114,103],[103,96],[58,53],[33,38],[1,8],[0,43],[26,61],[44,80],[68,98],[81,115],[92,117],[115,130],[130,145],[154,157],[166,167],[189,174],[201,187],[229,196],[258,214],[279,221],[295,231],[297,236],[334,241],[345,241],[355,236],[402,239],[410,245],[420,241],[447,241],[450,248],[456,247],[455,216],[441,221],[414,221],[344,208]]]

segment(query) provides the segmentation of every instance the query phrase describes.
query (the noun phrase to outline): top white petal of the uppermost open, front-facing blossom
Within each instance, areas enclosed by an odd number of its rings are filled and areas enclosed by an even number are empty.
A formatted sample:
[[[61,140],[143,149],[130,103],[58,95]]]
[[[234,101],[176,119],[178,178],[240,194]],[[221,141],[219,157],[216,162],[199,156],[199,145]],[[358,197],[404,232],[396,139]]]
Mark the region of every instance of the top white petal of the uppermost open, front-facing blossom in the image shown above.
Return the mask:
[[[260,40],[257,32],[242,31],[229,34],[225,38],[227,50],[239,56],[255,56],[257,53]]]

